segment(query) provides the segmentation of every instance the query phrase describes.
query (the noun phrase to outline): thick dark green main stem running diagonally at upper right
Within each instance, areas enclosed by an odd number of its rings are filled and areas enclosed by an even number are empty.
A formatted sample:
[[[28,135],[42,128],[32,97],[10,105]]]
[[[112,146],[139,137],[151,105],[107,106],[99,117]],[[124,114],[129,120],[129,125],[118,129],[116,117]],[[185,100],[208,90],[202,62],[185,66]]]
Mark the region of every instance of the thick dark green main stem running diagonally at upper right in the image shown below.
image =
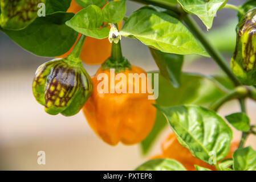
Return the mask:
[[[229,78],[234,82],[235,86],[241,85],[238,78],[234,76],[233,72],[231,72],[229,66],[227,65],[226,59],[221,55],[219,51],[209,42],[209,40],[204,35],[204,32],[197,25],[194,19],[189,15],[184,16],[184,22],[188,25],[193,34],[197,37],[197,39],[202,43],[205,47],[206,51],[210,56],[216,61],[216,63],[222,68],[222,70],[229,76]]]

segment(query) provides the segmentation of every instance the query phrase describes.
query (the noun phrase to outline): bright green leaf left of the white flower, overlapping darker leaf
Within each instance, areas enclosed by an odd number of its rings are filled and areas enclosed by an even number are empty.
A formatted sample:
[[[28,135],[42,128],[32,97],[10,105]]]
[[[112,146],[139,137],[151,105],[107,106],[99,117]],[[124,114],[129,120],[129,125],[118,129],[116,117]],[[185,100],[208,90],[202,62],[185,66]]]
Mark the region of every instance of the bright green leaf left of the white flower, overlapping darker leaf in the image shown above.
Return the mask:
[[[66,24],[75,31],[95,39],[107,38],[109,34],[109,28],[99,28],[103,24],[103,13],[95,5],[90,5],[86,9],[79,11]]]

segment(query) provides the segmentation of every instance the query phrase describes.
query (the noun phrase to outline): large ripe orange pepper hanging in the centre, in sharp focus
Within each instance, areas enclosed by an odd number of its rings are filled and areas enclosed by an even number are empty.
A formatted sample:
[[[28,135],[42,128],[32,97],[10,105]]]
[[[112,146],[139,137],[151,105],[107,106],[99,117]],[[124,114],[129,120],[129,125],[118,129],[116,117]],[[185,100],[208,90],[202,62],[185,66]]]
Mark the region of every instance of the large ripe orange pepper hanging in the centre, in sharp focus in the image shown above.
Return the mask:
[[[110,93],[110,90],[108,93],[99,93],[97,92],[97,85],[101,80],[97,80],[97,76],[100,73],[105,73],[110,78],[109,70],[100,68],[92,77],[94,90],[83,107],[83,113],[91,128],[104,142],[112,146],[119,142],[124,144],[141,142],[147,137],[155,123],[156,108],[152,105],[155,104],[155,100],[148,100],[150,94],[141,93],[141,91],[140,93],[134,91],[128,93],[128,84],[132,84],[128,81],[128,74],[147,74],[139,67],[131,66],[131,68],[125,68],[124,72],[120,72],[127,76],[127,93]],[[114,74],[116,76],[116,73]],[[109,80],[108,88],[111,86]],[[115,86],[119,82],[115,81]],[[135,81],[133,81],[131,88],[135,89]]]

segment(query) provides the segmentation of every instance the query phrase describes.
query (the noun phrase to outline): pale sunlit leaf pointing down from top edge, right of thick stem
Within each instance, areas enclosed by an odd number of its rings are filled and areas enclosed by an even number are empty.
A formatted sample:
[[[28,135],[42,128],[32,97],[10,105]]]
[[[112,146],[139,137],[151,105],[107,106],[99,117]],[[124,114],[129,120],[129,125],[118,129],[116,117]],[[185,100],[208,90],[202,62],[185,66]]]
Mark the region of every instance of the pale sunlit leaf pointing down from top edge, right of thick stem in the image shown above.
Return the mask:
[[[226,5],[227,0],[177,0],[181,7],[190,14],[197,15],[205,26],[212,28],[217,11]]]

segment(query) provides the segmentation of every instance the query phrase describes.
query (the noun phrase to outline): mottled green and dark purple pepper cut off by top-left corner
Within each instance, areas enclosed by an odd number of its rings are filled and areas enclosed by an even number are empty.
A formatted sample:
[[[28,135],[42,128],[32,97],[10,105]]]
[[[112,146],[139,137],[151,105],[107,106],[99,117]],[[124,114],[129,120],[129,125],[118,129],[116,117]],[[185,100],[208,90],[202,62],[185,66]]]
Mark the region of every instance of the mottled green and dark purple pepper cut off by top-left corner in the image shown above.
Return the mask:
[[[38,16],[38,4],[46,0],[0,0],[0,25],[7,30],[22,30]]]

